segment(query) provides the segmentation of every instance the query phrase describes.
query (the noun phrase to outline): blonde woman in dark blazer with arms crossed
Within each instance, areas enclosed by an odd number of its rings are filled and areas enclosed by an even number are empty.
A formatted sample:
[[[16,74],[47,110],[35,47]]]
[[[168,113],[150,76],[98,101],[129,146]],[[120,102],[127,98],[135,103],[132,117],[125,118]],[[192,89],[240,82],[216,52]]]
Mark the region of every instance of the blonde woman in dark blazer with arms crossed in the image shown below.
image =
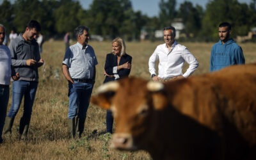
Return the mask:
[[[125,52],[125,42],[122,38],[115,38],[112,41],[113,51],[106,56],[104,83],[117,81],[122,77],[129,76],[131,72],[132,57]],[[106,114],[107,132],[112,134],[113,115],[110,110]]]

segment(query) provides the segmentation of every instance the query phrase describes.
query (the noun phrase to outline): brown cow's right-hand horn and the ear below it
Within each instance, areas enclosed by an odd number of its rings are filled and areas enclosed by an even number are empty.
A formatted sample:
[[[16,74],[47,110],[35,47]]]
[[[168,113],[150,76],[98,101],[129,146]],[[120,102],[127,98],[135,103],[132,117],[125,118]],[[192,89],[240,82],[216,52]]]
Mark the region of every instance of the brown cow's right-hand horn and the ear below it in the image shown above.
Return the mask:
[[[163,109],[167,106],[168,101],[163,95],[164,84],[159,82],[149,81],[147,83],[148,91],[152,92],[153,106],[155,109]]]

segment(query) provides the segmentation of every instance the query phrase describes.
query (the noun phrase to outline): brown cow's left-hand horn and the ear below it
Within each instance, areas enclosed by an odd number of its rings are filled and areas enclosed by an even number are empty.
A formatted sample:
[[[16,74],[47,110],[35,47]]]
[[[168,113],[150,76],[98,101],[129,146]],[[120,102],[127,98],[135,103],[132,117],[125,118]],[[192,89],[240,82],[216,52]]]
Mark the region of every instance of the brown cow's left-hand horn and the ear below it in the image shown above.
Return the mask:
[[[118,86],[117,82],[109,82],[99,86],[96,90],[97,95],[91,97],[91,102],[103,109],[109,109]]]

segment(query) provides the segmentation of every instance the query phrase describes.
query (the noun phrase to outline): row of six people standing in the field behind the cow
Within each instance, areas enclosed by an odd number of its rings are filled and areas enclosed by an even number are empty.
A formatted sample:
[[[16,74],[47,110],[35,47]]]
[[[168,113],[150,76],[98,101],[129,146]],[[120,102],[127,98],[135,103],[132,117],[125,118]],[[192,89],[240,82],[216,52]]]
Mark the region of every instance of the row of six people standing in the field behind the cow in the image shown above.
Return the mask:
[[[44,38],[40,33],[41,26],[36,20],[30,20],[26,29],[20,35],[12,29],[6,47],[8,36],[6,28],[0,24],[0,143],[4,138],[12,136],[12,125],[17,115],[22,98],[24,111],[20,118],[19,134],[21,140],[26,140],[29,123],[38,87],[38,68],[44,65],[40,57]],[[198,67],[198,61],[188,48],[175,40],[175,28],[167,26],[163,29],[164,44],[156,47],[148,60],[148,70],[152,81],[173,81],[191,76]],[[230,35],[232,27],[227,22],[219,25],[220,41],[212,46],[210,72],[220,70],[230,65],[245,63],[243,50],[234,42]],[[70,35],[64,36],[65,56],[62,61],[62,72],[68,81],[68,135],[70,138],[81,138],[84,122],[90,103],[93,85],[95,83],[97,57],[91,45],[89,28],[78,26],[74,29],[77,43],[69,45]],[[132,68],[132,57],[125,51],[125,41],[117,37],[112,42],[112,52],[106,54],[104,66],[104,82],[118,81],[129,76]],[[156,63],[159,61],[158,72]],[[184,63],[189,64],[186,72],[182,73]],[[12,82],[12,105],[8,114],[7,106]],[[106,132],[113,132],[113,115],[106,111]]]

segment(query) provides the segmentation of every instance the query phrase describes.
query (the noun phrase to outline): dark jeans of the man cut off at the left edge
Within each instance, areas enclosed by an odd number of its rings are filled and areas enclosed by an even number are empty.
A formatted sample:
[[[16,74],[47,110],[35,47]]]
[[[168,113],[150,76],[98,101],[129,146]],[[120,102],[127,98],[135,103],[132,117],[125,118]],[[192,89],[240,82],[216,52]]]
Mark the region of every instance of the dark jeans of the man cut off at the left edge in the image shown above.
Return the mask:
[[[0,143],[3,141],[2,132],[6,116],[6,109],[9,101],[9,92],[9,86],[0,86]]]

